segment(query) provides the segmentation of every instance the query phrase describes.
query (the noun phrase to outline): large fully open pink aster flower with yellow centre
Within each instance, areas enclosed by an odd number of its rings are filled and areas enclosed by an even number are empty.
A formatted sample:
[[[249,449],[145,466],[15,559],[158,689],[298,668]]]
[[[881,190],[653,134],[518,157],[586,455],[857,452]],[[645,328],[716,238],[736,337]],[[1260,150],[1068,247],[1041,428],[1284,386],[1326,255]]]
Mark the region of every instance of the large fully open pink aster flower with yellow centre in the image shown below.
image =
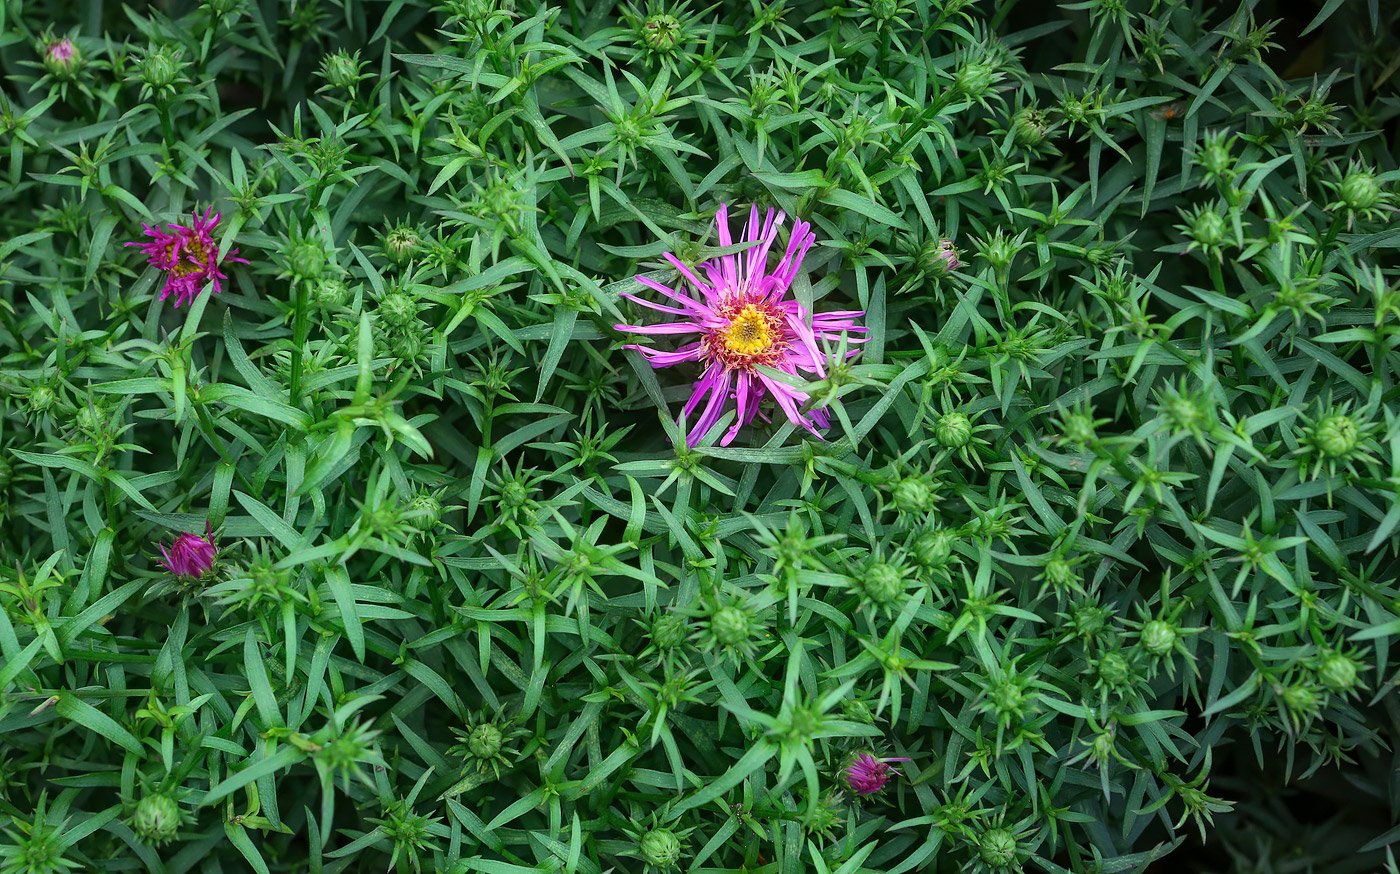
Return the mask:
[[[694,392],[686,402],[683,416],[704,402],[700,417],[686,436],[687,445],[696,445],[714,427],[725,402],[735,399],[738,419],[724,437],[721,445],[728,445],[739,429],[753,422],[759,403],[769,395],[777,401],[788,420],[812,434],[829,424],[823,410],[802,413],[798,408],[806,402],[806,392],[780,382],[759,370],[767,366],[788,374],[816,374],[826,377],[825,353],[819,340],[837,340],[843,333],[862,333],[865,328],[855,319],[865,315],[861,311],[808,312],[795,300],[787,298],[787,291],[802,266],[802,258],[816,241],[812,226],[797,221],[788,238],[787,251],[776,268],[769,268],[769,251],[783,227],[784,214],[769,210],[759,223],[759,207],[749,209],[749,223],[743,228],[741,242],[757,245],[735,255],[713,258],[699,270],[692,270],[675,255],[665,258],[680,273],[683,283],[676,289],[664,286],[647,276],[637,282],[659,291],[669,304],[643,300],[623,293],[643,307],[678,317],[678,321],[659,325],[617,325],[619,331],[652,335],[689,335],[689,342],[675,352],[662,352],[647,346],[627,346],[640,352],[652,367],[671,367],[682,361],[700,361],[704,371],[694,384]],[[734,245],[729,237],[728,207],[721,204],[715,214],[720,231],[720,245]],[[703,276],[703,277],[701,277]],[[861,343],[860,338],[850,342]],[[855,354],[851,352],[850,354]]]

